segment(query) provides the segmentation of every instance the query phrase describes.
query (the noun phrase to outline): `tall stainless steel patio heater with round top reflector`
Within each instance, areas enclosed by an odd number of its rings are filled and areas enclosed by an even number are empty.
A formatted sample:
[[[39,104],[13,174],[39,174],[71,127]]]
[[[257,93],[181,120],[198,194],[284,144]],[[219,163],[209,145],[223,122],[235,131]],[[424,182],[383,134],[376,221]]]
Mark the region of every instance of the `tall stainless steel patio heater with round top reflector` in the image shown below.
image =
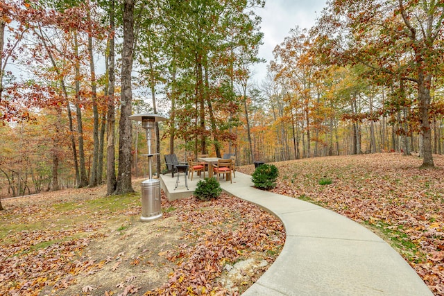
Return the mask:
[[[162,208],[160,207],[160,180],[158,178],[153,179],[153,171],[151,170],[153,156],[157,157],[159,155],[159,153],[151,151],[151,130],[155,128],[156,122],[164,121],[167,118],[150,113],[134,114],[129,118],[133,121],[142,121],[142,128],[145,129],[148,154],[142,154],[142,156],[148,156],[149,179],[142,182],[142,216],[140,216],[140,220],[142,222],[153,221],[162,217]]]

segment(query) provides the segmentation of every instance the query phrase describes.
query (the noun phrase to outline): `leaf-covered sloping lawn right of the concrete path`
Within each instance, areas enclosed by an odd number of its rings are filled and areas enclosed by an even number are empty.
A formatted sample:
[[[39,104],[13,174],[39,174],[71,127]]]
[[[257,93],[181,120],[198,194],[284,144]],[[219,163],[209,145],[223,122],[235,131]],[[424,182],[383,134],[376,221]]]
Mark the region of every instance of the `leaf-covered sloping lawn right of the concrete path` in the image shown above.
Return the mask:
[[[444,156],[434,155],[434,162],[436,168],[420,169],[422,159],[398,153],[277,162],[273,191],[373,229],[435,295],[444,295]],[[251,174],[254,166],[239,171]]]

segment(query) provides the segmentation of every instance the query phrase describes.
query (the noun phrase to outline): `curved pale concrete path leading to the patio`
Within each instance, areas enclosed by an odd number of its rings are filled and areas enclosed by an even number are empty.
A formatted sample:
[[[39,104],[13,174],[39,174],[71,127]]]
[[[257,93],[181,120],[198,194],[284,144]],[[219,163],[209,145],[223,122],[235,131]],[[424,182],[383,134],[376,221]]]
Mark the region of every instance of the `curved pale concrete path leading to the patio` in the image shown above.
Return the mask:
[[[373,232],[309,202],[253,188],[236,173],[224,191],[258,204],[284,224],[281,254],[250,295],[433,295],[400,254]]]

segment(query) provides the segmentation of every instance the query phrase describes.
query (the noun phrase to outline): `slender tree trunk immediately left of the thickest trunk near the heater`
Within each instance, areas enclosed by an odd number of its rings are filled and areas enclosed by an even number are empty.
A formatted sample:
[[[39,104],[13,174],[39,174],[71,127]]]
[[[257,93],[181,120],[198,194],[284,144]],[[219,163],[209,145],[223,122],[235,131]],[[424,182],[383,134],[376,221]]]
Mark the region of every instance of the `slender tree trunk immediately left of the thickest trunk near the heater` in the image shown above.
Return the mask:
[[[109,50],[109,69],[108,69],[108,115],[107,115],[107,147],[106,147],[106,194],[111,195],[116,190],[116,169],[115,169],[115,112],[114,112],[114,0],[110,0],[110,50]]]

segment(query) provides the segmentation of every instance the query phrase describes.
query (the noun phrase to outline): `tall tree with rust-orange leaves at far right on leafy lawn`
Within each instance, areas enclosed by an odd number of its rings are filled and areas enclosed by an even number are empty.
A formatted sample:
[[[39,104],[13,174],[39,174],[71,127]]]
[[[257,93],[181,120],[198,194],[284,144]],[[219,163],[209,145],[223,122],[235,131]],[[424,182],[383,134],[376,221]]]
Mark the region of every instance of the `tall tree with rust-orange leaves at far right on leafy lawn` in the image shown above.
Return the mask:
[[[387,84],[396,78],[416,84],[422,167],[434,166],[429,111],[433,76],[443,62],[443,12],[435,0],[335,0],[318,21],[320,39],[328,40],[323,52],[336,62],[365,64]]]

